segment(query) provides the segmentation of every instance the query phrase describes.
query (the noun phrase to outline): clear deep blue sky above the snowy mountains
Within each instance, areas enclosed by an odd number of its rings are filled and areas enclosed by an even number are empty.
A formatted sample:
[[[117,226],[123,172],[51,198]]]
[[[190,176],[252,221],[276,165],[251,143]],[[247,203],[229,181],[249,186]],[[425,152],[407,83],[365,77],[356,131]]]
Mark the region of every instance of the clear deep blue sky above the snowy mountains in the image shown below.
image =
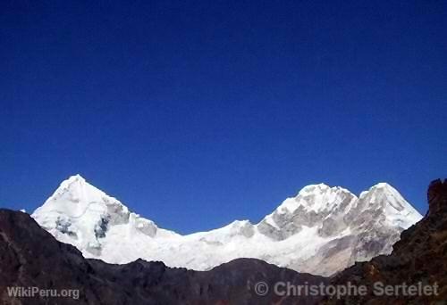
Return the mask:
[[[0,206],[80,173],[161,227],[447,175],[445,1],[2,1]]]

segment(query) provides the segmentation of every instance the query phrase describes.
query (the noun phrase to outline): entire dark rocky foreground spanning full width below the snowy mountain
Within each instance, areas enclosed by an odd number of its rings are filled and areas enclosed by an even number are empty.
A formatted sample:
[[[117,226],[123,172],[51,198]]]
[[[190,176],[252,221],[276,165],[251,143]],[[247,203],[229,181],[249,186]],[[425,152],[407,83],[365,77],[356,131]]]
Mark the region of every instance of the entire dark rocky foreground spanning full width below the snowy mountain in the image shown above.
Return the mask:
[[[357,263],[327,279],[278,268],[262,260],[240,259],[210,271],[167,268],[161,262],[137,260],[110,265],[86,260],[72,245],[59,243],[28,214],[0,210],[1,304],[447,304],[447,181],[428,190],[429,211],[402,233],[392,254]],[[349,296],[321,301],[310,297],[280,297],[273,289],[258,296],[263,281],[291,284],[439,284],[438,296]],[[71,298],[13,298],[6,287],[79,289]],[[372,292],[371,290],[368,290]]]

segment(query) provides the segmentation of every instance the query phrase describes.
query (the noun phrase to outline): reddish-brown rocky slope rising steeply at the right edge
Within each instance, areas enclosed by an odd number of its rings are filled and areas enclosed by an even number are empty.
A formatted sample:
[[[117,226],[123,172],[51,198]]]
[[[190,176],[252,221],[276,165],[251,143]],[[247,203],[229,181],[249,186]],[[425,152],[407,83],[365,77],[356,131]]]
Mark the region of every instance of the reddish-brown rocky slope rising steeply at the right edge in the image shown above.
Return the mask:
[[[365,284],[365,297],[349,296],[325,304],[444,304],[447,300],[447,180],[435,180],[428,188],[429,210],[425,218],[401,234],[392,254],[356,263],[334,277],[332,284]],[[373,294],[373,284],[438,284],[439,295],[383,297]]]

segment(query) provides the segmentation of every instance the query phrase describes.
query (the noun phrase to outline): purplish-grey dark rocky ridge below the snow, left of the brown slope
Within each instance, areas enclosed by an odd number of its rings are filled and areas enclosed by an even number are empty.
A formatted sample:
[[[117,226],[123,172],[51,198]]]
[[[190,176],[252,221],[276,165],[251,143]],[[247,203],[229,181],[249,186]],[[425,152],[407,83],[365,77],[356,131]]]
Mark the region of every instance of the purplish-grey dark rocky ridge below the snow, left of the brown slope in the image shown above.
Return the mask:
[[[327,283],[321,276],[299,274],[261,260],[240,259],[209,271],[167,268],[162,262],[137,260],[109,265],[86,260],[70,244],[59,243],[28,214],[0,210],[0,303],[4,305],[196,305],[315,304],[315,297],[258,296],[263,281],[291,284]],[[7,287],[79,290],[79,298],[12,297]]]

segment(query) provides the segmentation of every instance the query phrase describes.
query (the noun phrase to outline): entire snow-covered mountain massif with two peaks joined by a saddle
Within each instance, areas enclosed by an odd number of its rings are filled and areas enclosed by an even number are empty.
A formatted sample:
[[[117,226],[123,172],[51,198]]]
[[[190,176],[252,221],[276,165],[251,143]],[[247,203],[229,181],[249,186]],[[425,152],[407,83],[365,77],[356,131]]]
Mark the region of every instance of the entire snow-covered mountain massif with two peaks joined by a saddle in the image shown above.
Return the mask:
[[[391,185],[357,197],[342,187],[308,185],[257,224],[178,235],[157,227],[79,175],[68,178],[34,211],[41,227],[86,258],[127,263],[162,260],[207,270],[237,258],[330,276],[355,261],[389,254],[401,231],[422,216]]]

